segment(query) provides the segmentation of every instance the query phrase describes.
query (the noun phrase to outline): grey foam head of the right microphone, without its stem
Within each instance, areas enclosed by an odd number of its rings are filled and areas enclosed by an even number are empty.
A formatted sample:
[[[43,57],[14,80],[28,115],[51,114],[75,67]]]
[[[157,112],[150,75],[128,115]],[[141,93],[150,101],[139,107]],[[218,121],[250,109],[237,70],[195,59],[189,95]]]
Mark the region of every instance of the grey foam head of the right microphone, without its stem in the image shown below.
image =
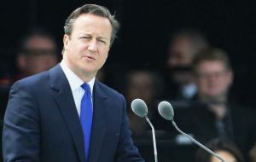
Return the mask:
[[[158,112],[166,120],[172,120],[174,117],[172,105],[168,101],[161,101],[159,103]]]

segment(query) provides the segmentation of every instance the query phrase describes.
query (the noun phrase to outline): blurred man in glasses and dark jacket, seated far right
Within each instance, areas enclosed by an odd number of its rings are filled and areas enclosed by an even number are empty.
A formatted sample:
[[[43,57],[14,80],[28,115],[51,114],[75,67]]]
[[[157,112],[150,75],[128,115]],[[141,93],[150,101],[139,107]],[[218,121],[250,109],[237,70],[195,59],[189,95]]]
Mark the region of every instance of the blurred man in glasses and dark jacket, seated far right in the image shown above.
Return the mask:
[[[255,112],[228,97],[233,71],[222,49],[202,50],[193,61],[198,92],[181,124],[201,142],[228,138],[247,153],[255,142]]]

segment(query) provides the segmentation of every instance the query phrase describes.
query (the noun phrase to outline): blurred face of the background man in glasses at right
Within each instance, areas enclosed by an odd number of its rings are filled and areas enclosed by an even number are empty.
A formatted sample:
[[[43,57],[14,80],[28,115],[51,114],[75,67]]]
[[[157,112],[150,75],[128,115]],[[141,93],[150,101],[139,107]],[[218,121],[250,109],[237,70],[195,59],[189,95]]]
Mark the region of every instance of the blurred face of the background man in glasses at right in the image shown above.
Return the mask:
[[[233,74],[222,61],[201,61],[196,68],[195,82],[200,96],[218,98],[226,95],[232,84]]]

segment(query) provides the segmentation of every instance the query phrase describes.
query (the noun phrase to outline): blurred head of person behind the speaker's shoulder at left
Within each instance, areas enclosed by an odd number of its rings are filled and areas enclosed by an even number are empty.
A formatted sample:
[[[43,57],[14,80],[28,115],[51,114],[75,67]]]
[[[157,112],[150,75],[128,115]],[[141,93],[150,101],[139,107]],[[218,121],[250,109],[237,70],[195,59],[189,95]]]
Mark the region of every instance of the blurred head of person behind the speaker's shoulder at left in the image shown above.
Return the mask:
[[[44,29],[34,29],[20,41],[15,80],[44,72],[58,62],[55,38]]]

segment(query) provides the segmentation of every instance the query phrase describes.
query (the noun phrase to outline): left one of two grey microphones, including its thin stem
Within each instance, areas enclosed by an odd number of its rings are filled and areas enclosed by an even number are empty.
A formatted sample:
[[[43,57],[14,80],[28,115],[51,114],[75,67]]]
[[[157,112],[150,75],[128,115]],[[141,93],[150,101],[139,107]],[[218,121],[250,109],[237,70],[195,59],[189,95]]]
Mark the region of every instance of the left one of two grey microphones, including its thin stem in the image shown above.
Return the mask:
[[[157,149],[156,149],[156,142],[155,142],[155,133],[154,133],[154,126],[151,124],[150,120],[148,119],[148,107],[146,103],[142,99],[134,99],[131,101],[131,110],[133,113],[137,114],[137,116],[145,118],[152,130],[153,136],[153,144],[154,144],[154,161],[158,162],[157,160]]]

